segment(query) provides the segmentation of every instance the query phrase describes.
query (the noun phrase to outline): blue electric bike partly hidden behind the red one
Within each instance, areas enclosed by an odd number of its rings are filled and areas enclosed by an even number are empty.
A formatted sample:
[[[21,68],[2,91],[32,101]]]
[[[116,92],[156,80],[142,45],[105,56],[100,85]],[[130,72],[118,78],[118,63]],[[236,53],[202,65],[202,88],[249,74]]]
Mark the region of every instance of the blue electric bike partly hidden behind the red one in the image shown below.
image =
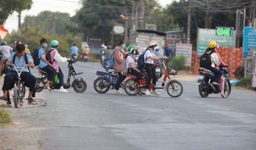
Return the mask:
[[[118,73],[116,71],[96,71],[96,79],[93,82],[93,88],[98,93],[107,93],[108,90],[115,89],[118,82]]]

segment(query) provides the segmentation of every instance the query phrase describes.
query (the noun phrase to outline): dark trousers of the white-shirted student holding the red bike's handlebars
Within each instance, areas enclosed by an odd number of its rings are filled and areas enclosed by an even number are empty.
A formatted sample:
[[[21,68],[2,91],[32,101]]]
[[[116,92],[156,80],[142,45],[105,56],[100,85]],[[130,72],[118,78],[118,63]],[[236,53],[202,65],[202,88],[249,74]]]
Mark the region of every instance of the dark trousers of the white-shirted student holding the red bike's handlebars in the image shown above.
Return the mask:
[[[151,80],[154,85],[157,84],[157,75],[155,74],[154,64],[146,63],[145,71],[148,75],[148,78],[146,79],[146,89],[149,89]]]

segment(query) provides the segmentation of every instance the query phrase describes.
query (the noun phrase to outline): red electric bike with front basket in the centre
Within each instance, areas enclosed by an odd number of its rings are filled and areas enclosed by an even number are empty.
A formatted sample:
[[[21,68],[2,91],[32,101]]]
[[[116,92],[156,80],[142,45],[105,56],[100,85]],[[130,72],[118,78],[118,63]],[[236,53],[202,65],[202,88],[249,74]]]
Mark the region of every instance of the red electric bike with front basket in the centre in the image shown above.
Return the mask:
[[[174,98],[177,98],[182,95],[183,87],[180,82],[178,82],[176,79],[171,79],[171,75],[177,75],[177,69],[168,67],[166,68],[166,64],[163,63],[163,66],[165,68],[165,74],[163,77],[162,86],[160,87],[154,87],[154,84],[150,83],[149,90],[155,89],[163,89],[166,90],[168,95]],[[136,79],[136,76],[132,74],[127,75],[127,79],[124,80],[124,91],[129,96],[135,96],[138,93],[140,93],[141,90],[146,90],[146,71],[142,71],[142,79],[140,79],[138,82],[134,82],[134,79]]]

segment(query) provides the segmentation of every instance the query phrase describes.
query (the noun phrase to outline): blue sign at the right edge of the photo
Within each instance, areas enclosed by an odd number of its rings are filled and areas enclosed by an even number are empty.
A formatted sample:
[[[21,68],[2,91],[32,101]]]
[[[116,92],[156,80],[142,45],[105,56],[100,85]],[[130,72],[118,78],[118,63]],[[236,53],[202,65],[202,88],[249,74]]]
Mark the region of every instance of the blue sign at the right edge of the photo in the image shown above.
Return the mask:
[[[252,53],[256,49],[256,28],[243,28],[243,58],[252,59]]]

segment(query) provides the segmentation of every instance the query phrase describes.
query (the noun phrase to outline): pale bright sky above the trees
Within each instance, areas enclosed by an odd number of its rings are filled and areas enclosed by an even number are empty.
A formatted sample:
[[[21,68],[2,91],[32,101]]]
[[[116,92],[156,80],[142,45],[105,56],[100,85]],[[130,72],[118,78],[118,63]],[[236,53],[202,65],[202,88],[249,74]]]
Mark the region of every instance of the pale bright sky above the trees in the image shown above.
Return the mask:
[[[174,0],[157,0],[164,7],[166,4],[170,4]],[[81,4],[79,0],[33,0],[33,5],[30,10],[25,10],[21,14],[21,20],[24,21],[26,15],[38,15],[43,10],[50,10],[55,12],[68,12],[69,14],[75,15],[76,11],[79,10]],[[13,29],[18,29],[18,13],[14,12],[10,15],[4,24],[4,27],[11,32]]]

